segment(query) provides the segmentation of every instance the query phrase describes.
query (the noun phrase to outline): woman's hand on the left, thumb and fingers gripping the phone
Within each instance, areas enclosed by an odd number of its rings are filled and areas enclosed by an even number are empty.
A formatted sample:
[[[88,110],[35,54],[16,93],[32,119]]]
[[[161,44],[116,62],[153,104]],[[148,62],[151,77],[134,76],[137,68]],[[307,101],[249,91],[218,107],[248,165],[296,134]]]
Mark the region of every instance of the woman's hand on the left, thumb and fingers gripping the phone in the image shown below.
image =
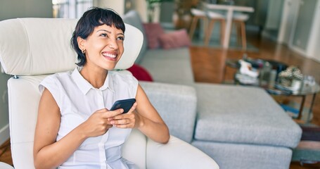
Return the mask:
[[[132,111],[132,110],[130,110]],[[113,124],[110,123],[110,118],[120,115],[123,109],[117,109],[115,111],[108,111],[103,108],[93,113],[84,123],[79,125],[81,131],[84,132],[85,137],[97,137],[108,132]]]

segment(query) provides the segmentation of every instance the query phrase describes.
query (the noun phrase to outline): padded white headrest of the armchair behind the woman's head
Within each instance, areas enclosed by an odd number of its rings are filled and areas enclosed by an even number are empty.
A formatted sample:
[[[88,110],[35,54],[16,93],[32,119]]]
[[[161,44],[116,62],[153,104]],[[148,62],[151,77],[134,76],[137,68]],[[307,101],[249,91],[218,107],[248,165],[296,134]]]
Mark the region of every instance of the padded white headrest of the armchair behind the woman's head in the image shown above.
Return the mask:
[[[73,70],[77,54],[70,39],[77,19],[17,18],[1,21],[0,62],[9,75],[46,75]],[[140,30],[125,24],[124,54],[116,70],[131,67],[143,42]]]

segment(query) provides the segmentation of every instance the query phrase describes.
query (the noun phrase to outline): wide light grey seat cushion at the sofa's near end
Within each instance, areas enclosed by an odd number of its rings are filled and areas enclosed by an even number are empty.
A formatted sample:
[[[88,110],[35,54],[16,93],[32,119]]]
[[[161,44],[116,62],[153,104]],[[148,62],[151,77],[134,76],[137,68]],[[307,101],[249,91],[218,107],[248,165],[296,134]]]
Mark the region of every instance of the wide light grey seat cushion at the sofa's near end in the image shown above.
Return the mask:
[[[301,128],[264,89],[205,83],[195,86],[196,140],[291,148],[299,143]]]

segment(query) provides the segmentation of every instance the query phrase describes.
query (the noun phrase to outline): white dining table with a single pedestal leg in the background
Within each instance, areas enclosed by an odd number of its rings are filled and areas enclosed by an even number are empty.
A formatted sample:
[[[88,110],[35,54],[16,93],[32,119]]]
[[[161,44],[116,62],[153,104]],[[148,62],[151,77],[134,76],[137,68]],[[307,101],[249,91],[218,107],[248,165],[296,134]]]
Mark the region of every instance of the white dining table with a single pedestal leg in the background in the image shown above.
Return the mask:
[[[226,28],[225,28],[226,30],[224,31],[224,40],[222,44],[224,49],[229,48],[233,13],[235,11],[248,12],[248,13],[252,13],[255,11],[255,9],[250,6],[222,5],[222,4],[209,4],[209,3],[203,3],[203,6],[205,7],[205,10],[226,11]]]

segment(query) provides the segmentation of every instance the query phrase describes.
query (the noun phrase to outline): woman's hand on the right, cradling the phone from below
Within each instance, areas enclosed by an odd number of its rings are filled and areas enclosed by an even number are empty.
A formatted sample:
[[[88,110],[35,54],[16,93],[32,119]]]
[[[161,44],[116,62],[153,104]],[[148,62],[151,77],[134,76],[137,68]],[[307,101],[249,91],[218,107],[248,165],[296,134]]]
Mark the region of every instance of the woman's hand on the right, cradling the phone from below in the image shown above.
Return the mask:
[[[128,113],[122,113],[120,115],[115,115],[113,118],[108,118],[111,125],[115,125],[118,128],[134,128],[139,127],[141,124],[141,118],[139,114],[136,113],[137,104],[134,103],[132,108],[128,111]]]

